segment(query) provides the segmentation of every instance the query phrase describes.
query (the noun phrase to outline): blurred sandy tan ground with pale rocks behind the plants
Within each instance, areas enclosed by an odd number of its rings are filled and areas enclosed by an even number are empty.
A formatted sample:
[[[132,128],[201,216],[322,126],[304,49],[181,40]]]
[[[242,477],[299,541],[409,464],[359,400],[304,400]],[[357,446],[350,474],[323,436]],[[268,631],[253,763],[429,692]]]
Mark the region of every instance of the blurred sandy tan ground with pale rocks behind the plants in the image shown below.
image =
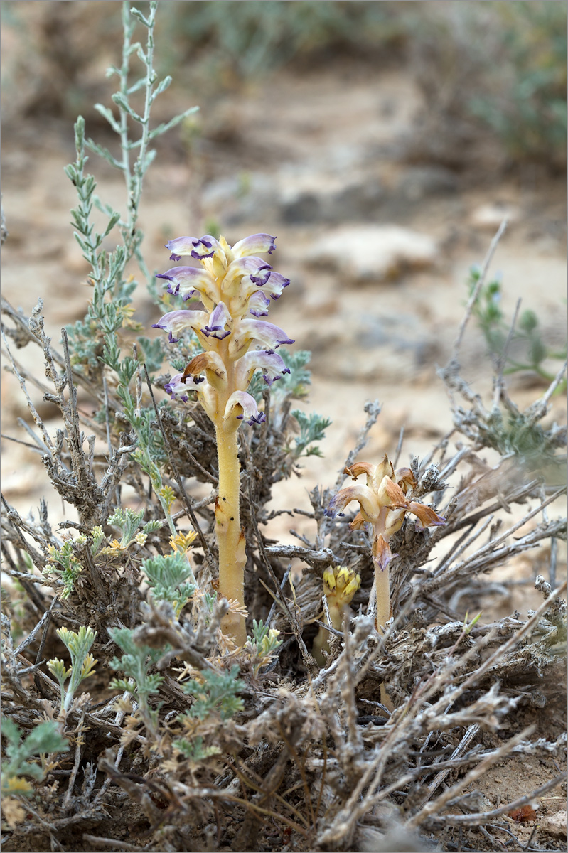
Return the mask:
[[[171,113],[188,106],[191,102],[172,103]],[[536,170],[504,179],[409,165],[400,151],[414,132],[420,106],[413,81],[403,73],[379,79],[356,68],[302,78],[280,73],[270,84],[206,107],[194,148],[184,148],[177,136],[160,148],[148,174],[141,219],[150,269],[167,268],[165,240],[202,233],[208,220],[222,226],[229,242],[257,231],[278,235],[273,263],[292,285],[272,306],[270,321],[296,347],[312,351],[310,397],[300,406],[326,415],[333,425],[321,443],[323,458],[310,457],[302,479],[276,486],[274,508],[308,508],[314,485],[333,485],[368,400],[378,398],[383,405],[362,454],[369,461],[385,452],[394,455],[401,427],[403,464],[425,456],[449,431],[451,413],[437,368],[447,363],[463,316],[468,270],[483,261],[504,215],[509,226],[492,265],[502,276],[503,308],[512,316],[521,298],[522,307],[536,311],[551,344],[560,348],[565,337],[564,182]],[[90,298],[88,268],[69,224],[75,197],[63,174],[74,159],[72,128],[54,125],[42,135],[7,136],[3,295],[26,315],[41,297],[58,345],[61,326],[83,317]],[[124,187],[116,174],[95,158],[90,166],[101,198],[123,206]],[[365,237],[361,246],[357,229]],[[150,336],[157,311],[143,293],[136,297],[135,319]],[[38,351],[28,346],[14,354],[43,379]],[[474,322],[461,363],[476,390],[489,392],[490,361]],[[526,375],[511,380],[510,387],[521,407],[543,390]],[[32,397],[55,432],[55,409],[41,394],[33,391]],[[81,402],[93,411],[89,400]],[[32,419],[18,383],[6,373],[2,410],[3,434],[26,441],[16,421]],[[563,400],[556,399],[551,418],[565,420]],[[3,440],[2,462],[3,493],[20,514],[36,512],[40,497],[47,496],[54,527],[74,517],[49,487],[38,453]],[[281,516],[270,533],[293,543],[290,526]],[[301,516],[293,527],[310,535],[310,522]],[[488,596],[488,608],[498,616],[518,609],[525,617],[539,601],[532,583],[546,561],[547,554],[531,552],[503,567],[496,575],[501,591]],[[492,769],[480,783],[487,809],[530,792],[556,772],[552,759],[530,757]],[[553,795],[542,799],[539,820],[565,808],[558,799],[563,792]],[[521,842],[532,828],[513,827]]]

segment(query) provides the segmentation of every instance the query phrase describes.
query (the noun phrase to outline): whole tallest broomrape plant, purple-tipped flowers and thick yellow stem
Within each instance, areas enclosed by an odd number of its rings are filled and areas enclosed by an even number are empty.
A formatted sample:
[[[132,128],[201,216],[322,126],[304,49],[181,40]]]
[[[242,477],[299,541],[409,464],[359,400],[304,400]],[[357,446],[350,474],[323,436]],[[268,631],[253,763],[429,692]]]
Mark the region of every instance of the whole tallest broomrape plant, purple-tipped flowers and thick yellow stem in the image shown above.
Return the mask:
[[[239,461],[236,433],[241,422],[260,424],[264,412],[247,388],[256,370],[271,385],[290,373],[275,350],[293,344],[283,329],[258,319],[266,316],[289,279],[272,269],[258,253],[275,251],[275,237],[253,234],[233,247],[224,237],[177,237],[165,244],[171,260],[185,257],[195,266],[175,266],[157,276],[168,293],[185,301],[200,299],[203,310],[173,310],[154,324],[168,333],[172,344],[190,330],[203,347],[183,373],[165,385],[172,399],[189,401],[194,392],[215,425],[219,464],[216,531],[219,548],[219,592],[244,610],[243,572],[246,562],[239,514]],[[235,609],[235,608],[234,608]],[[229,612],[223,630],[243,645],[244,617]]]

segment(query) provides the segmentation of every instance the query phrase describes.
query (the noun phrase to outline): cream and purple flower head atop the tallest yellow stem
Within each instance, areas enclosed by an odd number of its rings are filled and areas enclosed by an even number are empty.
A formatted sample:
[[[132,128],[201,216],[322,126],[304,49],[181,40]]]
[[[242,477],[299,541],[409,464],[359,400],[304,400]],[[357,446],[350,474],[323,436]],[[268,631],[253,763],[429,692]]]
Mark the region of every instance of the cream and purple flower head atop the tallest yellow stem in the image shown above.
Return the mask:
[[[236,430],[243,420],[261,423],[264,413],[246,393],[252,374],[262,370],[271,385],[290,373],[275,350],[293,344],[281,328],[259,319],[268,314],[270,299],[278,299],[290,283],[258,258],[257,252],[274,252],[275,237],[254,234],[233,247],[224,237],[177,237],[165,246],[171,260],[188,255],[200,266],[172,267],[157,277],[168,282],[168,293],[183,301],[197,297],[205,309],[170,311],[154,323],[169,334],[171,343],[191,329],[204,349],[165,391],[184,402],[189,391],[196,392],[207,415],[225,430]]]

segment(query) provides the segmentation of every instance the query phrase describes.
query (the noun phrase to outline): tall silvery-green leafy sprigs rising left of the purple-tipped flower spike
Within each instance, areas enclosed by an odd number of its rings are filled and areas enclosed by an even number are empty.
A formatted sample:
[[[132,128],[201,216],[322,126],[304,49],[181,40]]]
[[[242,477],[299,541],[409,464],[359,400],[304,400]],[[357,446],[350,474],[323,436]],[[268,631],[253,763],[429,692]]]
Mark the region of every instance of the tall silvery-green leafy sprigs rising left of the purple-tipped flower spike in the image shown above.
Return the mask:
[[[84,119],[79,117],[75,125],[77,159],[66,169],[67,177],[72,181],[78,194],[78,206],[72,210],[73,225],[76,229],[75,238],[84,258],[91,266],[89,280],[93,286],[93,299],[87,316],[69,329],[72,363],[93,375],[100,373],[101,362],[113,369],[120,367],[120,345],[117,333],[122,327],[137,328],[130,319],[133,311],[130,307],[131,296],[136,290],[137,282],[133,276],[126,275],[125,271],[132,258],[136,259],[151,292],[155,293],[154,278],[148,272],[140,250],[143,234],[138,227],[142,185],[148,167],[155,156],[151,143],[194,113],[197,108],[191,107],[171,121],[151,127],[150,118],[154,102],[171,84],[170,76],[165,76],[158,82],[158,75],[154,69],[154,27],[157,7],[156,0],[152,0],[149,3],[148,15],[143,15],[139,9],[130,8],[130,3],[122,3],[124,31],[122,62],[119,67],[111,66],[107,72],[109,77],[117,77],[119,80],[119,88],[113,95],[118,117],[113,110],[102,104],[95,106],[97,112],[101,113],[111,130],[119,137],[120,157],[115,157],[107,148],[92,139],[85,139]],[[133,41],[137,22],[142,23],[147,32],[144,48]],[[130,62],[134,55],[142,63],[142,75],[132,82]],[[143,95],[143,107],[140,112],[136,108],[138,92]],[[139,130],[139,136],[136,139],[130,138],[133,127]],[[114,169],[122,173],[128,193],[125,213],[114,210],[112,206],[102,202],[96,196],[95,178],[87,174],[84,169],[88,160],[85,149],[100,155]],[[136,155],[134,161],[133,154]],[[91,221],[94,206],[107,218],[107,225],[101,231],[97,231]],[[102,244],[113,229],[119,229],[121,243],[113,252],[106,252]]]

